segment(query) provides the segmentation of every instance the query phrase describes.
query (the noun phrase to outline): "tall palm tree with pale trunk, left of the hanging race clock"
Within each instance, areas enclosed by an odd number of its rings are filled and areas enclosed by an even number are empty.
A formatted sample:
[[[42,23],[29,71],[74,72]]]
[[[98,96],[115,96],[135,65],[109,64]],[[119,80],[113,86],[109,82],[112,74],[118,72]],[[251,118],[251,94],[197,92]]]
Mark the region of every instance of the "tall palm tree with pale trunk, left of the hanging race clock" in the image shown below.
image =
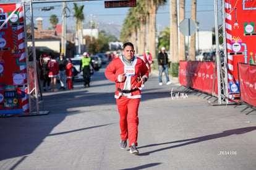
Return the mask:
[[[75,17],[75,44],[78,47],[77,52],[81,54],[83,52],[83,20],[85,19],[83,15],[83,5],[77,6],[74,3],[74,17]]]

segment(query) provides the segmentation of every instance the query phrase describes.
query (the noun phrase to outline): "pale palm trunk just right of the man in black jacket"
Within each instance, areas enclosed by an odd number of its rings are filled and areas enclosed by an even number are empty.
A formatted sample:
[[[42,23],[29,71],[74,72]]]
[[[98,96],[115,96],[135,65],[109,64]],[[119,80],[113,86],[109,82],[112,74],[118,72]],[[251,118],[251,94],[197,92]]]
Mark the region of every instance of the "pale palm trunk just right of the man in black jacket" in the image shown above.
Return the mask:
[[[173,62],[178,62],[179,52],[178,52],[178,33],[177,33],[177,3],[176,0],[170,0],[170,8],[171,8],[171,32],[170,32],[170,46],[173,46]]]

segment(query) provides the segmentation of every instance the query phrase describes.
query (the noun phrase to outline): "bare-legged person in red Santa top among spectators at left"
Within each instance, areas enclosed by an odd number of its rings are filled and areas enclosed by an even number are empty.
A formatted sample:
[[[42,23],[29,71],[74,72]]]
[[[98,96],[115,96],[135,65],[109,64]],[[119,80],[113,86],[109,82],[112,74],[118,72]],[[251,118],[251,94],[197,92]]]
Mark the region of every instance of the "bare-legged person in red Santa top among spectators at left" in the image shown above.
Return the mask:
[[[51,78],[51,91],[57,91],[56,82],[57,82],[57,76],[59,74],[59,65],[58,65],[58,62],[55,60],[54,56],[52,56],[48,66],[49,66],[49,77]]]

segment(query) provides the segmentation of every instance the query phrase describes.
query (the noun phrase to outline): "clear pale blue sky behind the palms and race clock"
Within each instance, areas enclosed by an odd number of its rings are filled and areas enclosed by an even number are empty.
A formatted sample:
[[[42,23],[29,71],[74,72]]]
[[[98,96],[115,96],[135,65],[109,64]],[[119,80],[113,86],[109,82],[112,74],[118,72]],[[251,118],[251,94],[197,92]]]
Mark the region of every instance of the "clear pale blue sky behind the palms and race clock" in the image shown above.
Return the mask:
[[[11,2],[15,0],[4,0],[6,2]],[[93,15],[93,20],[104,22],[104,23],[116,23],[122,25],[124,19],[126,18],[127,11],[129,8],[112,8],[105,9],[104,1],[88,1],[88,2],[76,2],[77,4],[83,4],[85,22],[90,20],[90,15]],[[139,0],[137,0],[139,1]],[[50,7],[53,6],[54,9],[51,11],[40,11],[41,7]],[[67,7],[70,9],[70,15],[74,15],[73,7],[74,2],[67,2]],[[190,18],[191,11],[191,1],[186,0],[186,18]],[[49,16],[56,14],[59,18],[59,23],[61,24],[61,12],[62,12],[62,3],[41,3],[33,4],[33,14],[34,21],[37,17],[43,17],[43,28],[47,29],[51,27],[49,23]],[[197,21],[199,22],[199,30],[201,31],[211,31],[215,27],[214,20],[214,1],[213,0],[197,0]],[[36,23],[36,22],[35,22]],[[67,18],[67,25],[75,25],[75,19],[73,17]],[[156,15],[156,27],[163,30],[163,27],[169,27],[169,1],[165,6],[161,6],[158,9]]]

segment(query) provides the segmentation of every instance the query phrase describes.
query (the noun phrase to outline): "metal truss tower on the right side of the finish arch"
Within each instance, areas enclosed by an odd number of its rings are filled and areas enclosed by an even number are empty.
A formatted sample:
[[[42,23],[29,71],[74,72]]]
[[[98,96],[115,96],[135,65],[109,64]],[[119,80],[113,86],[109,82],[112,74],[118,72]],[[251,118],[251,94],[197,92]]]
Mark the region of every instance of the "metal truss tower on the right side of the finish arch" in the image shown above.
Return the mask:
[[[218,104],[228,104],[228,68],[224,0],[215,0],[216,69],[218,77]],[[220,43],[220,40],[223,40]],[[221,57],[223,61],[221,61]]]

